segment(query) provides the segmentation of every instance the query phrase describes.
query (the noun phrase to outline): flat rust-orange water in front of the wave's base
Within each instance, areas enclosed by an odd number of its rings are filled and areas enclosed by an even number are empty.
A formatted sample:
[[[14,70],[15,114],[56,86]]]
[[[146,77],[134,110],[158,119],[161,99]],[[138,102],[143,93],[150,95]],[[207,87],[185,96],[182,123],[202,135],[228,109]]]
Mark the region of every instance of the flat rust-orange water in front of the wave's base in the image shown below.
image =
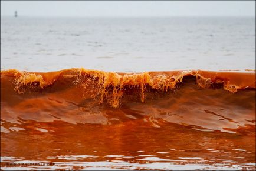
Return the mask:
[[[254,169],[255,137],[201,132],[175,124],[143,125],[42,123],[20,125],[24,130],[1,133],[1,168],[8,169]],[[5,120],[2,120],[8,128]],[[11,125],[9,123],[9,125]],[[38,127],[36,127],[38,126]],[[17,127],[19,127],[17,125]],[[54,130],[54,132],[51,132]],[[9,163],[45,162],[54,166]],[[46,164],[45,164],[46,165]],[[16,167],[17,166],[17,167]]]

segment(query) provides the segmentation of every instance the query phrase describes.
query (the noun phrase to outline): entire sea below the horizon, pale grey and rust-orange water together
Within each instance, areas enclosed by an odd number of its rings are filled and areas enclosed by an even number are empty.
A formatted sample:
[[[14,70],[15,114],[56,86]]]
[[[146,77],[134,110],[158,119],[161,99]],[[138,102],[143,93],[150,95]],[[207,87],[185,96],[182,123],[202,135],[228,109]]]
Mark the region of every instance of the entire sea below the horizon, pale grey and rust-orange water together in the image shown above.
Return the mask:
[[[255,71],[176,69],[255,69],[255,19],[1,18],[1,169],[255,170]]]

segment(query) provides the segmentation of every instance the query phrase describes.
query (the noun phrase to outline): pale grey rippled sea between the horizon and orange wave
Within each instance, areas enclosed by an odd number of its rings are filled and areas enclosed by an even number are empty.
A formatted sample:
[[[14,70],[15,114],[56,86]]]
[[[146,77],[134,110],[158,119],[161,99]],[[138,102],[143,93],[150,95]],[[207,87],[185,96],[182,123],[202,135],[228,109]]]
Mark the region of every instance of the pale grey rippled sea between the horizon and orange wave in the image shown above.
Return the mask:
[[[1,17],[1,70],[255,69],[255,18]]]

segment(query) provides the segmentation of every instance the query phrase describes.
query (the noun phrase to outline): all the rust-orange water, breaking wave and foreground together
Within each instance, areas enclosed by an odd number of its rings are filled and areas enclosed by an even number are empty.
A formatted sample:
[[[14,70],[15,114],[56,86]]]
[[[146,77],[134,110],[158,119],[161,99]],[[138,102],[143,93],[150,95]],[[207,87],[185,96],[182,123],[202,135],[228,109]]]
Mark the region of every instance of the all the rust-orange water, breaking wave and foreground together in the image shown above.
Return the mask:
[[[1,167],[25,161],[254,170],[255,72],[1,71]]]

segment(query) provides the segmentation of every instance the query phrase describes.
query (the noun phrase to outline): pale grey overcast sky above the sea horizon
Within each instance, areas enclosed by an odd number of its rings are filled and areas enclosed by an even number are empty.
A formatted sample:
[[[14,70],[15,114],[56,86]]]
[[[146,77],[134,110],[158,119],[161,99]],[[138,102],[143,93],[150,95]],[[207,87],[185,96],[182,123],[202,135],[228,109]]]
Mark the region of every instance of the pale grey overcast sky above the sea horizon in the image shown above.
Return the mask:
[[[1,16],[254,16],[255,1],[1,1]]]

